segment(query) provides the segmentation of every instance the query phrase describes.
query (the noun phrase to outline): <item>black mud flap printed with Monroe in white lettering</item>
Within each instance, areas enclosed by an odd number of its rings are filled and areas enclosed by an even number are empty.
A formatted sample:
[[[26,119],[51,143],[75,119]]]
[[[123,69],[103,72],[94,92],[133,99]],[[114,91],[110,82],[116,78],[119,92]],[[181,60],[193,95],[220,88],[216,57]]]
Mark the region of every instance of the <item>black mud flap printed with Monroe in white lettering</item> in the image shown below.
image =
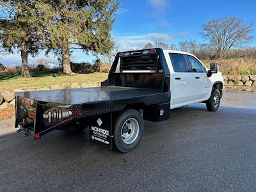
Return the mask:
[[[93,116],[90,120],[90,141],[109,150],[113,148],[112,113]]]

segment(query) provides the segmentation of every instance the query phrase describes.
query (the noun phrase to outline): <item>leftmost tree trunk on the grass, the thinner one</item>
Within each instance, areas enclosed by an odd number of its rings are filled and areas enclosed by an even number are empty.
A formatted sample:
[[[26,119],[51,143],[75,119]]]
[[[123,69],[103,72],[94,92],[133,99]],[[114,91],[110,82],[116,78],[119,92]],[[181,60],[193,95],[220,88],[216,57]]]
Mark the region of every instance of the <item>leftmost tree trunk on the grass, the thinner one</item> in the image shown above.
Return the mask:
[[[28,67],[28,52],[26,42],[22,41],[20,45],[20,56],[21,56],[21,76],[31,77],[29,74]]]

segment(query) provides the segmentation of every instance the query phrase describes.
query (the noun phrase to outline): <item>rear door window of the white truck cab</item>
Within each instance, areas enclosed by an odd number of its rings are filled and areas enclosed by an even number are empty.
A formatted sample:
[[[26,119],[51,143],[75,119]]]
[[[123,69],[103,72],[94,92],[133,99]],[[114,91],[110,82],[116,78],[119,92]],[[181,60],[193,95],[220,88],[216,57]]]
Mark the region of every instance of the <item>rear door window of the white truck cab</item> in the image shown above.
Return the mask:
[[[184,54],[169,53],[172,60],[172,67],[175,72],[188,72],[188,65]]]

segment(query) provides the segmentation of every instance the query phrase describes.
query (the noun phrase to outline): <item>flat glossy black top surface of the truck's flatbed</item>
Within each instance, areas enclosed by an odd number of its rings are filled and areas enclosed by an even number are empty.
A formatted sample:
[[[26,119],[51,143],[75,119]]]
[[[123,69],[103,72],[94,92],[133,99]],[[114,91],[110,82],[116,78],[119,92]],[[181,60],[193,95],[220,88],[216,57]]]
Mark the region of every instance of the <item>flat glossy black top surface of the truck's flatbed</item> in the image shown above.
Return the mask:
[[[154,97],[157,100],[164,99],[170,95],[161,90],[147,88],[129,88],[119,86],[94,87],[94,88],[75,88],[63,90],[45,90],[32,92],[19,92],[17,96],[37,100],[39,102],[51,102],[65,105],[95,104],[101,102],[115,102],[136,98]],[[148,98],[149,99],[149,98]]]

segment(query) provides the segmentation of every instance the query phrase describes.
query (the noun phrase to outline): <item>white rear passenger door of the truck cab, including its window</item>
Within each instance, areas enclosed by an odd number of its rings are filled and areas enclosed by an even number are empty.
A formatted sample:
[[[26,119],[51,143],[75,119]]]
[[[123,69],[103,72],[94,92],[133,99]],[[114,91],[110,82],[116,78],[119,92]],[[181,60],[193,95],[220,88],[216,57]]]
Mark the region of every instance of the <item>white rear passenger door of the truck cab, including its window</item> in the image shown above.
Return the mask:
[[[184,54],[169,53],[172,61],[171,108],[184,106],[194,100],[195,77],[189,72]]]

